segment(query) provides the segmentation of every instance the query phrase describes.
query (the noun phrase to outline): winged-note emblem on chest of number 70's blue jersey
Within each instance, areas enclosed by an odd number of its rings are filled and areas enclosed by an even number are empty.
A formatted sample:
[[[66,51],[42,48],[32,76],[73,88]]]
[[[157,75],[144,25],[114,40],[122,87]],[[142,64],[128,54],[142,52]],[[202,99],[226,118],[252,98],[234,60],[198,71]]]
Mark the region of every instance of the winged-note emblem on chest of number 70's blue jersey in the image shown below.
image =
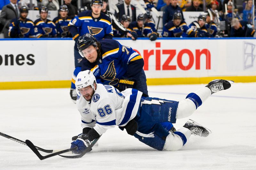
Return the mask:
[[[119,79],[116,78],[114,60],[109,63],[107,71],[100,78],[110,81],[109,85],[116,85],[118,83]]]

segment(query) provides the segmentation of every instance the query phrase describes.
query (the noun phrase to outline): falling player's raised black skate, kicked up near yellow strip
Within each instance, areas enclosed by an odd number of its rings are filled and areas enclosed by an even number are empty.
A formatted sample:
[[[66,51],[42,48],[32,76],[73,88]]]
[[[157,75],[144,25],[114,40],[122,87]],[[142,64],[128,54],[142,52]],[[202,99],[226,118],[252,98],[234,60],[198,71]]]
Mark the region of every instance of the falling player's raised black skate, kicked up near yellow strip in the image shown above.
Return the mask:
[[[216,79],[216,80],[212,80],[205,87],[208,87],[213,94],[213,93],[219,92],[221,90],[229,89],[231,87],[231,84],[233,84],[233,83],[234,83],[234,81],[232,81],[232,80]]]

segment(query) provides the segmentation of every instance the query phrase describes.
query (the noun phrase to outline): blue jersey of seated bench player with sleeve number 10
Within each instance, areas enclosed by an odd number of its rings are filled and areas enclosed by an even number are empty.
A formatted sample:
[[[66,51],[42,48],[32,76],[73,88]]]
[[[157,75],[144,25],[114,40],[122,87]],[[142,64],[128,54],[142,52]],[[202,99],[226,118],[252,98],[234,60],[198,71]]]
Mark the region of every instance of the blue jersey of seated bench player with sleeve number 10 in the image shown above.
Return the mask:
[[[163,37],[195,37],[195,32],[189,28],[185,21],[181,21],[179,26],[175,26],[173,21],[164,25]]]

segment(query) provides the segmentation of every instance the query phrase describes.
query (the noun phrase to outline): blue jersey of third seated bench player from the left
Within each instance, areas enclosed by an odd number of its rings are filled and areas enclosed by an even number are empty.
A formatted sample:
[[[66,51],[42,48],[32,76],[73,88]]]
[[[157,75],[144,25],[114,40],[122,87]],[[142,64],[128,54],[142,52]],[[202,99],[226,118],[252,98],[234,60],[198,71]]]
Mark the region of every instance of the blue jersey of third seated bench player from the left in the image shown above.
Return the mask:
[[[71,18],[62,19],[61,17],[56,17],[52,20],[56,25],[57,30],[57,37],[65,38],[65,37],[72,37],[71,34],[68,32],[68,23],[71,21]]]

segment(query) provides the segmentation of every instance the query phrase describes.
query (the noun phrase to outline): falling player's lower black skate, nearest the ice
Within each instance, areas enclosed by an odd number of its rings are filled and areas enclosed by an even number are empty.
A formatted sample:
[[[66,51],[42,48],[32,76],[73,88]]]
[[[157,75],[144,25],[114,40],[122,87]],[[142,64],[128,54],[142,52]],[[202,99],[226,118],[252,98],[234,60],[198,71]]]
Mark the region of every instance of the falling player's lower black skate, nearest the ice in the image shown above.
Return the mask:
[[[185,123],[183,127],[191,130],[191,134],[198,135],[200,137],[207,137],[210,133],[212,133],[211,130],[205,128],[204,126],[191,119],[188,119],[188,122]]]

